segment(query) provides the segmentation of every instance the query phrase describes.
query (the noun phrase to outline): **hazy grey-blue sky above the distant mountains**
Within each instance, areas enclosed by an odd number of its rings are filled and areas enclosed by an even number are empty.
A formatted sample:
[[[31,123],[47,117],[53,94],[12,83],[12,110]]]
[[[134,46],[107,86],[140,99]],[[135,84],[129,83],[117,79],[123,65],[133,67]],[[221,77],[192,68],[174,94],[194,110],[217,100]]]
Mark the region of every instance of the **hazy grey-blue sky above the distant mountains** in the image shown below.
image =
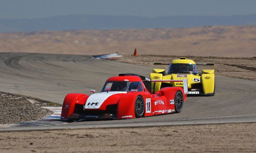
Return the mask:
[[[256,14],[256,0],[0,0],[0,18],[70,14],[176,16]]]

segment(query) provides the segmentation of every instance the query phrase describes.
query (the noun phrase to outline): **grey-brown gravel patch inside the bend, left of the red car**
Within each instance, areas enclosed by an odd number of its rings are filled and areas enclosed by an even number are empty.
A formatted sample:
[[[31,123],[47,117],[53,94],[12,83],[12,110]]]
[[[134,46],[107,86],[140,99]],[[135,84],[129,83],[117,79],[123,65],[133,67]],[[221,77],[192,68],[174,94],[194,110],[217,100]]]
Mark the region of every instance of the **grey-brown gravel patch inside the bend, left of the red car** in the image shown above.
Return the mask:
[[[53,113],[42,106],[59,104],[0,92],[0,124],[37,120]]]

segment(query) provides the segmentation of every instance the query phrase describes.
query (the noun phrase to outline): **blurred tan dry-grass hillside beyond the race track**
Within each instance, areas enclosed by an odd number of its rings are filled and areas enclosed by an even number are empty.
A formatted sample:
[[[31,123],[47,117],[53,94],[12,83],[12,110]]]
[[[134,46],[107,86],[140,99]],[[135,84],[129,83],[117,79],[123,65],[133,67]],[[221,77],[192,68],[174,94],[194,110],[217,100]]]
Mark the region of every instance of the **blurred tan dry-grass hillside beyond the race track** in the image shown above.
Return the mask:
[[[131,53],[253,57],[256,26],[46,31],[0,34],[0,52]]]

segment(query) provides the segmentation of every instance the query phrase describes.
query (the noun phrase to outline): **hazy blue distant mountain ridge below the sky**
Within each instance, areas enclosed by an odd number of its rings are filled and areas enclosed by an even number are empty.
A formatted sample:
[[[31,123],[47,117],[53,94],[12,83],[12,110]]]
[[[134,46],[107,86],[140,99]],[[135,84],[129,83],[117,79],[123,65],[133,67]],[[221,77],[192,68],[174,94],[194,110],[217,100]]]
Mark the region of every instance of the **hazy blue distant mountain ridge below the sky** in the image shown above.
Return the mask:
[[[256,25],[256,14],[162,17],[68,15],[38,19],[0,19],[0,33],[92,29],[191,28],[204,25]]]

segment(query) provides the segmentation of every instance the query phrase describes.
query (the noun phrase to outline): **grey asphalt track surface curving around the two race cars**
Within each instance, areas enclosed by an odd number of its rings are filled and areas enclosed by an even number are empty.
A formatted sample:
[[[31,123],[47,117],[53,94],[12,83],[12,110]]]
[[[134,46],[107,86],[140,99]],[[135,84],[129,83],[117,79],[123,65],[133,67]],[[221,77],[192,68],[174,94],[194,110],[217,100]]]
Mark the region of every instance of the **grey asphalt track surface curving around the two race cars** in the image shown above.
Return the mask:
[[[0,91],[62,104],[70,92],[100,91],[119,73],[148,76],[151,67],[97,60],[86,55],[0,53]],[[214,97],[189,97],[183,111],[129,120],[83,121],[68,125],[166,122],[214,118],[256,118],[256,81],[216,76]],[[67,124],[65,124],[67,125]]]

